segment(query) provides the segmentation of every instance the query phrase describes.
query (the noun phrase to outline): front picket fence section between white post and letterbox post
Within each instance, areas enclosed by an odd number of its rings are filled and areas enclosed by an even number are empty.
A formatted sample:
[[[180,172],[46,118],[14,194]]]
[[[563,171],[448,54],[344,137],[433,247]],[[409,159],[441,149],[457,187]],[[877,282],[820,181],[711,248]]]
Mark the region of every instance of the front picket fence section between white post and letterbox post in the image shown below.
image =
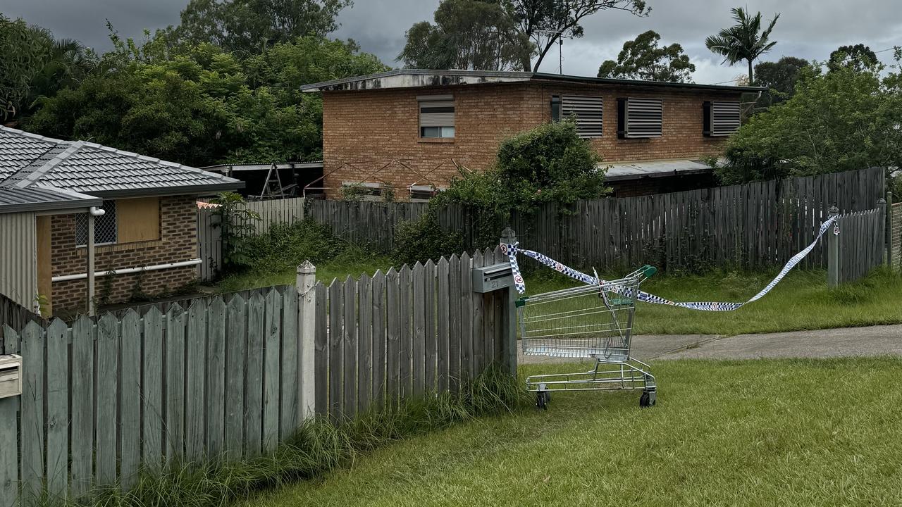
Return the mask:
[[[490,364],[515,368],[506,292],[473,291],[474,267],[507,262],[496,248],[318,283],[318,413],[353,418],[373,404],[456,391]]]

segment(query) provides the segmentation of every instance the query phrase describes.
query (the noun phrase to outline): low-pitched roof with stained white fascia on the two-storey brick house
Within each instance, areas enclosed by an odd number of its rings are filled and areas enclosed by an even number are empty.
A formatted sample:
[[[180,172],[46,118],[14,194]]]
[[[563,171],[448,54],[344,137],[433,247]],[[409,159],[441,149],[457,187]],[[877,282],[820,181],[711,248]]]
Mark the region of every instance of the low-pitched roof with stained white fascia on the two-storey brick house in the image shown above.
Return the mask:
[[[428,70],[395,69],[378,74],[355,76],[354,78],[332,79],[300,87],[300,91],[313,93],[321,91],[351,91],[383,88],[421,88],[436,86],[480,85],[490,83],[517,83],[528,81],[560,81],[584,84],[647,88],[686,88],[710,91],[757,93],[768,88],[735,87],[723,85],[702,85],[697,83],[669,83],[664,81],[640,81],[635,79],[592,78],[588,76],[567,76],[545,72],[503,72],[490,70]]]

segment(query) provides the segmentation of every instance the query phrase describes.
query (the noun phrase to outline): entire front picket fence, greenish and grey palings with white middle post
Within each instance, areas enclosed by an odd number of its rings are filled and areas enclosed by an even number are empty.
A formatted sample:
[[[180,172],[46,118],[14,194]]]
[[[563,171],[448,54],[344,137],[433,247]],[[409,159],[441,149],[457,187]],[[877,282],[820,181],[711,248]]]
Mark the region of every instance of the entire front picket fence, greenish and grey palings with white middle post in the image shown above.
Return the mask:
[[[499,250],[359,281],[5,328],[23,394],[0,399],[0,507],[128,489],[140,472],[272,451],[306,417],[340,422],[492,364],[516,368],[509,294],[473,292]]]

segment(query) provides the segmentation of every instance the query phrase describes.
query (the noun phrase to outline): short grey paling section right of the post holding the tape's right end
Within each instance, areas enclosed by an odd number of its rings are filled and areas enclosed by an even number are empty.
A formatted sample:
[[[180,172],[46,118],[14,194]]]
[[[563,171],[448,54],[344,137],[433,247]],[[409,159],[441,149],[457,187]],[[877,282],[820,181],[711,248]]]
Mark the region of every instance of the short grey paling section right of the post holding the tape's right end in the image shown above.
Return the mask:
[[[887,208],[840,215],[826,235],[827,281],[830,286],[856,281],[884,263]]]

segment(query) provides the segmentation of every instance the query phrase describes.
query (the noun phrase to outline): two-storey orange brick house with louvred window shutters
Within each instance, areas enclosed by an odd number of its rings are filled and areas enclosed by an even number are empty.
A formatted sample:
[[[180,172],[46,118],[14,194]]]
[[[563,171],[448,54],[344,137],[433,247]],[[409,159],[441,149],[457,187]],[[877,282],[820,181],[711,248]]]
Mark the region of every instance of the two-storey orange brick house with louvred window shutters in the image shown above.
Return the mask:
[[[713,185],[703,160],[740,124],[743,93],[763,88],[582,78],[533,72],[400,69],[301,87],[323,96],[323,181],[400,196],[446,187],[460,166],[492,165],[512,134],[576,117],[611,165],[616,195]]]

